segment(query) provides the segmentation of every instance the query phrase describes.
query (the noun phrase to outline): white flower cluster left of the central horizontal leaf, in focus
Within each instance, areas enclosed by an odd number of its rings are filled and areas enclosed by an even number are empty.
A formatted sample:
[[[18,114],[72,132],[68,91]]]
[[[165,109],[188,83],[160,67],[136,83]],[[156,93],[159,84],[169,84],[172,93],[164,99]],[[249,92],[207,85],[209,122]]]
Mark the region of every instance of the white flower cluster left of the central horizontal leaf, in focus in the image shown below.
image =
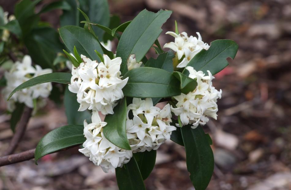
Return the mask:
[[[113,114],[116,101],[123,98],[122,88],[128,77],[121,80],[121,58],[110,59],[103,55],[104,63],[92,61],[81,55],[82,63],[72,68],[69,90],[77,93],[78,111],[86,109],[101,111],[102,114]]]

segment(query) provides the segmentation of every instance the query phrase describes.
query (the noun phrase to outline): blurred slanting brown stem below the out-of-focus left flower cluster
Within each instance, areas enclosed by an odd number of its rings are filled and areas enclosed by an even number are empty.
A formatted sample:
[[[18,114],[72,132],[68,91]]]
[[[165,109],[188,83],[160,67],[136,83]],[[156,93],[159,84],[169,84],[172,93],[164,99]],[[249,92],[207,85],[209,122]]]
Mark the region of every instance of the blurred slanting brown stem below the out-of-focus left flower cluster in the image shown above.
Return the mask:
[[[22,117],[20,121],[18,122],[15,134],[10,141],[9,147],[3,154],[4,156],[12,154],[14,150],[16,149],[19,141],[21,140],[22,136],[25,133],[31,113],[32,113],[32,108],[25,107]]]

